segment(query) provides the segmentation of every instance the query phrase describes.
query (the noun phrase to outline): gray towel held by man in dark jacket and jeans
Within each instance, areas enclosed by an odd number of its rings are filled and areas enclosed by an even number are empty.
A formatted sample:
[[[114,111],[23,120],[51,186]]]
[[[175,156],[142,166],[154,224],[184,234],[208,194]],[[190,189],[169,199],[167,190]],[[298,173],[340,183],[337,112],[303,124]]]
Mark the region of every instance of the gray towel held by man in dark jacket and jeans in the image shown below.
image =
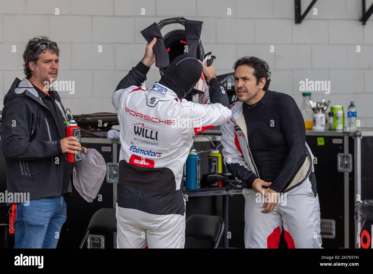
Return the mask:
[[[74,164],[73,183],[79,194],[93,202],[106,175],[106,163],[102,155],[94,148],[82,152],[82,160]]]

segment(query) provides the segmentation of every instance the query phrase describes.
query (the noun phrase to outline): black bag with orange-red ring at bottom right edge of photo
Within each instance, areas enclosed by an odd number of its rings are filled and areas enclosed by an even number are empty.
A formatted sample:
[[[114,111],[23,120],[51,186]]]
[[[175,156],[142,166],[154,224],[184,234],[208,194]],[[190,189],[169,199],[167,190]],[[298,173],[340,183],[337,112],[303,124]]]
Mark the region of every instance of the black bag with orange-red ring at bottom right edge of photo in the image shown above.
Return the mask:
[[[373,248],[373,200],[357,202],[354,219],[357,220],[356,248]]]

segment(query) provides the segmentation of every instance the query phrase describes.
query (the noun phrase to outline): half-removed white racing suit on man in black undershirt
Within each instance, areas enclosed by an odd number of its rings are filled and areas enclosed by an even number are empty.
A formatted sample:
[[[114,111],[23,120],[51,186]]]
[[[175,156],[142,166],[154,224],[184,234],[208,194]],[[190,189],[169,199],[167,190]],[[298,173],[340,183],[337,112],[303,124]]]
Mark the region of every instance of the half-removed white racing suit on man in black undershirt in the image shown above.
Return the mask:
[[[245,170],[252,171],[260,178],[248,146],[242,106],[242,102],[232,104],[231,120],[220,126],[224,162],[230,165],[230,171],[237,180],[243,179]],[[261,213],[264,210],[263,196],[257,196],[252,188],[243,189],[245,248],[278,248],[282,230],[288,248],[321,248],[319,198],[313,154],[307,144],[306,154],[294,178],[281,191],[281,197],[272,212]]]

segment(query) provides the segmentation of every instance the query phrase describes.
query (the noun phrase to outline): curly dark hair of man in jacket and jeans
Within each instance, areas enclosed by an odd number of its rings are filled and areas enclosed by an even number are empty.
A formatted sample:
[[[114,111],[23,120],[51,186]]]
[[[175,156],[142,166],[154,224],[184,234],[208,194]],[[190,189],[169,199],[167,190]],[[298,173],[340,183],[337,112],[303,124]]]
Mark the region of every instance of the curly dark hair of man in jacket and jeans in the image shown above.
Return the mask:
[[[50,41],[48,37],[35,36],[34,38],[28,40],[25,51],[23,52],[23,61],[25,62],[23,64],[23,72],[25,73],[27,79],[30,79],[32,76],[32,70],[30,69],[28,63],[36,63],[37,60],[39,60],[40,53],[47,51],[42,50],[40,47],[37,46],[37,44],[41,42],[50,42],[47,50],[50,50],[52,53],[56,53],[57,56],[59,56],[60,49],[58,48],[57,43]]]

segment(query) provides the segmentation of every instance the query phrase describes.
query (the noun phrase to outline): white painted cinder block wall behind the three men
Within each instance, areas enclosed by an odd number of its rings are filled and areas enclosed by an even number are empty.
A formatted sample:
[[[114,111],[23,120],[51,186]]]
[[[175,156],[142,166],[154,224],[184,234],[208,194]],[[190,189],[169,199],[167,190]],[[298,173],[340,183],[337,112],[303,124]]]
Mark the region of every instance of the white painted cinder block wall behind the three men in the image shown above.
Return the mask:
[[[304,10],[310,0],[301,3]],[[231,72],[239,57],[260,57],[270,65],[270,89],[292,95],[300,105],[300,81],[330,81],[329,95],[313,92],[312,98],[325,97],[346,110],[355,101],[361,126],[373,127],[373,17],[365,26],[359,21],[361,0],[318,0],[314,7],[318,14],[310,12],[296,25],[294,0],[0,0],[0,108],[15,77],[24,77],[26,42],[47,35],[60,47],[58,80],[75,81],[75,94],[60,92],[65,107],[75,114],[114,112],[113,90],[144,54],[140,31],[184,16],[204,22],[201,38],[205,51],[217,57],[218,74]],[[167,26],[162,33],[180,27]],[[159,78],[152,67],[145,85]]]

